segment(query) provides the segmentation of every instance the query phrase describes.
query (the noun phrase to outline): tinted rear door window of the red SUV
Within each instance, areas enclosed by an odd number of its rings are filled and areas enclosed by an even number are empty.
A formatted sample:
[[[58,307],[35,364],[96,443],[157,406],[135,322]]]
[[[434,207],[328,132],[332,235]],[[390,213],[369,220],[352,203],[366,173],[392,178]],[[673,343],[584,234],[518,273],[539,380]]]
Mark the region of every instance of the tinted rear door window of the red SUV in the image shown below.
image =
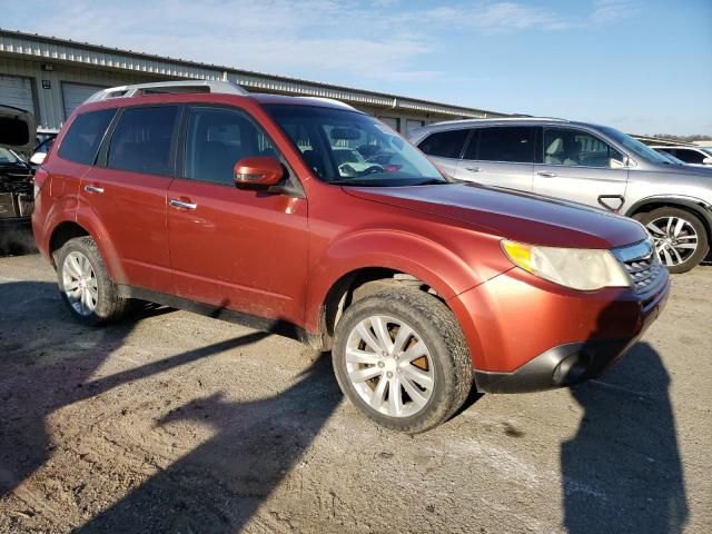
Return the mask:
[[[126,108],[113,130],[107,167],[171,175],[177,106]]]

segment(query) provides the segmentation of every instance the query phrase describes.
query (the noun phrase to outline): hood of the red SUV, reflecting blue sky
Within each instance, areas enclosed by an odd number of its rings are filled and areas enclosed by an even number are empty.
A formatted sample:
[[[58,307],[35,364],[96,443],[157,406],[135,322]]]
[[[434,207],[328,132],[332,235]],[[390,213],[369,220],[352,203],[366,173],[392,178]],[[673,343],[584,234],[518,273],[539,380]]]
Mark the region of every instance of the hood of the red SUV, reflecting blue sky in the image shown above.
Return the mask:
[[[587,206],[477,184],[344,187],[348,195],[466,222],[532,245],[615,248],[646,237],[632,219]]]

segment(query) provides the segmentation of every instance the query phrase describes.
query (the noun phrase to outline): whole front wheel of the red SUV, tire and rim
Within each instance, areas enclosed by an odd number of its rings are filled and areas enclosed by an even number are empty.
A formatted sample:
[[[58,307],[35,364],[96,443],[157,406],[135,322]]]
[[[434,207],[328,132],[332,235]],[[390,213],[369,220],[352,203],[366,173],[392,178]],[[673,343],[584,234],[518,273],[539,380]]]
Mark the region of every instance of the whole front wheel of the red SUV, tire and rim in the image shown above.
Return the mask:
[[[352,404],[408,434],[447,421],[472,388],[469,350],[455,316],[419,289],[385,289],[354,303],[336,325],[332,355]]]

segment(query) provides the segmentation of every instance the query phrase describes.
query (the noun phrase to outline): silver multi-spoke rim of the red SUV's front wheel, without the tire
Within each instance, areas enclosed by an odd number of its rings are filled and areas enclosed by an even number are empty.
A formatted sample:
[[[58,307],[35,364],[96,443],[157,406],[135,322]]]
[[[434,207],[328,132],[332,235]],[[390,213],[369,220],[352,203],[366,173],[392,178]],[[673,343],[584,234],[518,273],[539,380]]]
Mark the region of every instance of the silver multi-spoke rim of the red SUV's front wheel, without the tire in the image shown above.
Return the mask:
[[[375,315],[356,325],[346,342],[346,372],[360,398],[389,417],[425,408],[435,374],[431,353],[411,326]]]

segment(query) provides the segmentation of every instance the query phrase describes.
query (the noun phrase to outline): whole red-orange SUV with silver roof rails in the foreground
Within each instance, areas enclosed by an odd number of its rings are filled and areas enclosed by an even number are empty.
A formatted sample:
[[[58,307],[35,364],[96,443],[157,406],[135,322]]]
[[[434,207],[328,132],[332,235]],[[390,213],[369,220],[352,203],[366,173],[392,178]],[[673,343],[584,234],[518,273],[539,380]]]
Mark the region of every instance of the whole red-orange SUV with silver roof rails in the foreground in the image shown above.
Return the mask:
[[[229,83],[103,90],[37,172],[34,235],[87,325],[130,299],[332,350],[409,433],[481,392],[599,376],[669,293],[644,228],[455,182],[377,119]]]

